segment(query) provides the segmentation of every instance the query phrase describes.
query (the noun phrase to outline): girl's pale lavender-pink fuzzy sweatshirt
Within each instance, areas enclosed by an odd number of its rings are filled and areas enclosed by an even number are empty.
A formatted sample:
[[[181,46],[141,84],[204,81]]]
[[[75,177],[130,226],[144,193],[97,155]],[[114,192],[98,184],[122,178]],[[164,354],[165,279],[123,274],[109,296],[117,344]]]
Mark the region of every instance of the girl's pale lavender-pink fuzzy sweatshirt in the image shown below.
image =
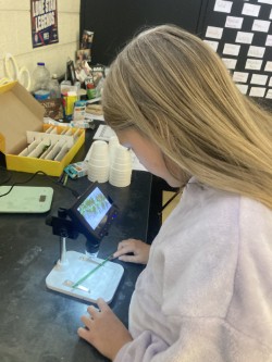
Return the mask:
[[[193,178],[152,242],[129,330],[114,362],[272,361],[272,211]]]

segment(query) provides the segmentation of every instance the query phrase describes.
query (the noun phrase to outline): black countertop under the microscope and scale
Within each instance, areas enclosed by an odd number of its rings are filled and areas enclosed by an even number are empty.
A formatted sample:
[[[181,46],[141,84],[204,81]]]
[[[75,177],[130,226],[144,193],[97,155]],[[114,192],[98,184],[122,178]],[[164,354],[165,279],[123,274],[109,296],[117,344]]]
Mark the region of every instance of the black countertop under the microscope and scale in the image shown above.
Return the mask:
[[[88,148],[87,138],[77,160],[83,159]],[[28,177],[30,174],[12,172],[9,185]],[[77,337],[79,317],[89,303],[46,286],[46,277],[60,258],[59,237],[52,235],[46,217],[55,215],[60,207],[69,208],[75,202],[72,192],[53,183],[55,179],[37,175],[27,184],[53,187],[50,213],[0,214],[1,362],[108,361]],[[67,184],[79,194],[89,185],[87,177],[70,179]],[[116,250],[122,239],[147,239],[151,175],[134,171],[128,187],[116,188],[109,183],[100,187],[120,208],[118,219],[100,245],[98,257],[106,258]],[[79,235],[76,240],[67,239],[66,249],[84,252],[85,238]],[[124,275],[110,305],[127,325],[131,296],[143,266],[114,262],[123,265]]]

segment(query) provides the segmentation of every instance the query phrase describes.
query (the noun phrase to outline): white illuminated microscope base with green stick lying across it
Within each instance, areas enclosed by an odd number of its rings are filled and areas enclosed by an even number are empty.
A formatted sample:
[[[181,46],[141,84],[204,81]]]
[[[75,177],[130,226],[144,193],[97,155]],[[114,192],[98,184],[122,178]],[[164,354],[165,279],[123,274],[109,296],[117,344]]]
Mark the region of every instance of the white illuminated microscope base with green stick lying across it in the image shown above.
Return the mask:
[[[49,289],[89,302],[96,302],[98,298],[103,298],[107,303],[111,302],[124,273],[122,265],[107,261],[77,288],[73,288],[77,280],[103,262],[103,259],[67,251],[66,261],[65,264],[58,262],[47,276],[46,284]]]

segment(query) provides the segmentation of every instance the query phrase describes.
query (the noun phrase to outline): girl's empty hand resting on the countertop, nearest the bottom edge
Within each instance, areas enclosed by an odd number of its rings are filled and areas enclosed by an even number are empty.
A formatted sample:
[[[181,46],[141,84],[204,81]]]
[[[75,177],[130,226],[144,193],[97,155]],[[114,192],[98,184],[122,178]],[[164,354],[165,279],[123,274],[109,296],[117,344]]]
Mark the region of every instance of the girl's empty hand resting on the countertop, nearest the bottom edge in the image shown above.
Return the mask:
[[[100,311],[94,305],[88,307],[89,316],[81,317],[85,328],[78,328],[77,334],[100,353],[114,360],[119,350],[133,338],[103,299],[99,298],[97,304]]]

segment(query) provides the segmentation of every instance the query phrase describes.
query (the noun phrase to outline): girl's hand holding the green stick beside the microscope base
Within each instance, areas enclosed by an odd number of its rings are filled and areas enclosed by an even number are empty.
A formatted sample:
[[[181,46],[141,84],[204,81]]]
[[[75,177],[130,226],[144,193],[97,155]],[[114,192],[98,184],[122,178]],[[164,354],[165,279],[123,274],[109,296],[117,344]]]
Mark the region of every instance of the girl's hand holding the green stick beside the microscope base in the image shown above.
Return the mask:
[[[127,239],[119,244],[118,251],[114,252],[113,258],[131,263],[147,264],[149,251],[150,246],[148,244],[136,239]],[[132,254],[127,255],[127,253]]]

